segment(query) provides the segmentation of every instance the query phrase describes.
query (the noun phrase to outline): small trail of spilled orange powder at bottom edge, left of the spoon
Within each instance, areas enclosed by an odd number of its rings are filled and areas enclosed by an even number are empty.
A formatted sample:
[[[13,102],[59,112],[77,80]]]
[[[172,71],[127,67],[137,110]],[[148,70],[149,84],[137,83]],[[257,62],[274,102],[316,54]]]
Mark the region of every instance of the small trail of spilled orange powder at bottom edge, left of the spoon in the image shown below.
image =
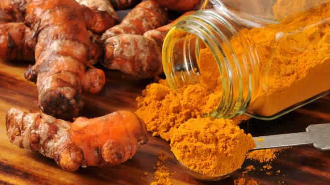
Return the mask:
[[[172,185],[170,178],[170,170],[165,165],[168,157],[164,152],[158,154],[158,161],[156,162],[156,169],[154,179],[155,181],[151,182],[150,185]]]

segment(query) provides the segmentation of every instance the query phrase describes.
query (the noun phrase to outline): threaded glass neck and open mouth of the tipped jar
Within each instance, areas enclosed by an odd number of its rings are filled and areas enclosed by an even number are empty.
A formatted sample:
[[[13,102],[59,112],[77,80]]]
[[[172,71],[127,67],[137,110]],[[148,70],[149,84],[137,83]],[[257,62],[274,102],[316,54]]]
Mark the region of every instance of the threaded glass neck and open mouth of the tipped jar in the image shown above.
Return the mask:
[[[163,46],[163,66],[173,89],[200,83],[200,50],[208,47],[220,71],[222,98],[210,117],[231,118],[247,109],[257,94],[259,62],[250,39],[218,10],[200,10],[183,17]],[[212,79],[210,79],[212,80]]]

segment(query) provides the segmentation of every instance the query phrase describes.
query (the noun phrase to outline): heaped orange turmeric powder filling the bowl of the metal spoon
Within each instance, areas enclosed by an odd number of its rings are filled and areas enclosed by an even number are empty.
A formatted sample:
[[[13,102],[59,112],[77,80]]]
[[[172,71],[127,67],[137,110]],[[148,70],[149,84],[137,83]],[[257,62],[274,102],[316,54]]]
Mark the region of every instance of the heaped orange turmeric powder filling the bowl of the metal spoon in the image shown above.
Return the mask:
[[[171,151],[189,169],[201,174],[226,174],[241,167],[255,147],[250,134],[232,120],[189,119],[171,138]]]

